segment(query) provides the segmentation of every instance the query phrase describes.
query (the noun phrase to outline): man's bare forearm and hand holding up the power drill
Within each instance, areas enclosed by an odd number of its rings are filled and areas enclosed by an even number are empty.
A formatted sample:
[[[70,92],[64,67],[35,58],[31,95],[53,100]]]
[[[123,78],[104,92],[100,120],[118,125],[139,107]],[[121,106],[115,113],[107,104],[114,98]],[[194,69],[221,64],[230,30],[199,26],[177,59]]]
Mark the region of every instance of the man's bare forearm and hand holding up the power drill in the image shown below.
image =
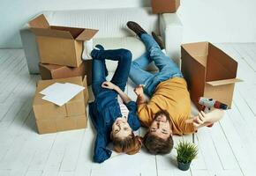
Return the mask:
[[[220,109],[215,109],[210,113],[205,114],[203,111],[200,111],[200,114],[192,117],[192,119],[186,120],[186,123],[192,123],[194,130],[198,128],[205,127],[220,121],[223,117],[224,111]]]

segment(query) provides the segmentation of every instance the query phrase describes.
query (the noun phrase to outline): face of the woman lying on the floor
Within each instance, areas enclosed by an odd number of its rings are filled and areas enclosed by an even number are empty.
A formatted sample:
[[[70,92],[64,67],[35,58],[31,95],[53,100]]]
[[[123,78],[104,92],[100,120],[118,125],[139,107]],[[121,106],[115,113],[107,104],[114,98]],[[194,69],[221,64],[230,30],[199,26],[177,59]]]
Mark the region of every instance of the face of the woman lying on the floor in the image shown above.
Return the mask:
[[[112,125],[112,135],[124,138],[132,134],[132,128],[125,118],[119,117]]]

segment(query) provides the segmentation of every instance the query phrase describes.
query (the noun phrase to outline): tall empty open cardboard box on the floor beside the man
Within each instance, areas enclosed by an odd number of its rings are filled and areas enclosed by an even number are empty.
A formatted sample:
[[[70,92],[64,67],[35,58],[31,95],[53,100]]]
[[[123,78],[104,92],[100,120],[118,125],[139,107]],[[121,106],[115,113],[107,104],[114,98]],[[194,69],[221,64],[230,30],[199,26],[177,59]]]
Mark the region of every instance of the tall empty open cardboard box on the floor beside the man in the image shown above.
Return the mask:
[[[181,46],[181,70],[192,102],[201,109],[200,97],[217,99],[231,107],[237,78],[237,62],[209,42]]]

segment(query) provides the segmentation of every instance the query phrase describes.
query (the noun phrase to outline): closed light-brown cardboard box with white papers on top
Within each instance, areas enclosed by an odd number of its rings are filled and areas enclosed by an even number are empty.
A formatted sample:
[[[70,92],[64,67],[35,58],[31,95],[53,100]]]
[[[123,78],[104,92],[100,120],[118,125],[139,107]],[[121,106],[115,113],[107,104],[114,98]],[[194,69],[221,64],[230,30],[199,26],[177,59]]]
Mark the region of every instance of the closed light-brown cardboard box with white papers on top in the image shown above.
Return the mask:
[[[85,86],[84,92],[79,92],[64,106],[41,99],[41,90],[54,83],[72,83]],[[77,128],[87,127],[87,78],[70,77],[64,79],[40,80],[34,95],[33,110],[39,134],[54,133]]]

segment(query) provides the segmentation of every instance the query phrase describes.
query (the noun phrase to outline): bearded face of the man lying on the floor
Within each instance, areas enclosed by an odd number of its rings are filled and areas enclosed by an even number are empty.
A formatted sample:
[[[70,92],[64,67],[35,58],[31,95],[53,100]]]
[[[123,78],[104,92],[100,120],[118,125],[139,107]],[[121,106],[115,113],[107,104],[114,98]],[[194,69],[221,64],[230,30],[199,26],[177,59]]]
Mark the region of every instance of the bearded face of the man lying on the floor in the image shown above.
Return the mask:
[[[158,136],[162,139],[167,139],[172,133],[169,125],[169,119],[167,119],[164,114],[158,115],[151,123],[149,131],[154,136]]]

